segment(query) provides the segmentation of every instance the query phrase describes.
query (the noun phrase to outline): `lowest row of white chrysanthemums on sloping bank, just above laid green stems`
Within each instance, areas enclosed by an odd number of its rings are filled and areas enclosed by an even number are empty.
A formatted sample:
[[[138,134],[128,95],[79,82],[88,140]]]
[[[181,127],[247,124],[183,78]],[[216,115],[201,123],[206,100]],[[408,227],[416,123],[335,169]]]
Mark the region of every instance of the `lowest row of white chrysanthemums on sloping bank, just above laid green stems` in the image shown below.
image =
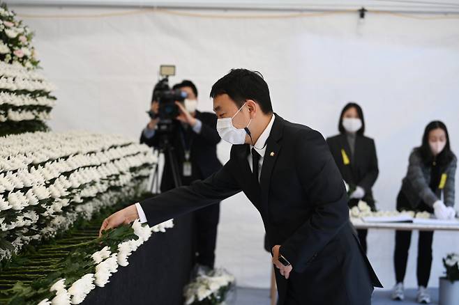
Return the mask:
[[[99,212],[103,208],[110,207],[119,201],[128,201],[132,198],[137,198],[144,194],[147,189],[148,178],[144,178],[142,181],[129,180],[123,182],[121,189],[103,191],[98,196],[92,198],[84,204],[77,205],[73,211],[66,212],[65,214],[54,215],[54,212],[61,212],[61,208],[69,204],[67,199],[57,199],[52,204],[52,208],[47,208],[47,212],[52,216],[52,220],[45,227],[40,229],[40,234],[30,235],[27,234],[29,229],[37,230],[35,224],[31,224],[30,228],[23,226],[15,232],[15,240],[12,242],[14,247],[13,251],[8,249],[0,249],[0,261],[3,259],[9,259],[13,253],[17,254],[24,245],[28,244],[32,240],[41,240],[43,237],[55,237],[57,232],[65,231],[80,217],[83,219],[91,219],[94,214]],[[119,183],[121,184],[121,183]],[[36,214],[36,213],[34,213]],[[0,218],[0,226],[2,219]]]

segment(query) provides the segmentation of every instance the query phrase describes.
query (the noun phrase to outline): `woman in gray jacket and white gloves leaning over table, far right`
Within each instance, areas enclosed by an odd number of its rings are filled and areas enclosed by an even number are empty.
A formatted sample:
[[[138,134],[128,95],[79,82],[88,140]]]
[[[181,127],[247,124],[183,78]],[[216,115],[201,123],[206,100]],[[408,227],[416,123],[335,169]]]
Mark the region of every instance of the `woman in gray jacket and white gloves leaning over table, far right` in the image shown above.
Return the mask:
[[[453,219],[454,175],[456,156],[451,152],[448,131],[444,123],[433,121],[424,131],[422,145],[409,155],[407,175],[397,197],[397,210],[427,211],[437,219]],[[442,200],[443,195],[443,200]],[[426,290],[432,265],[433,231],[419,231],[417,278],[419,303],[430,303]],[[396,286],[393,299],[405,298],[403,279],[407,267],[411,231],[396,231],[396,249],[393,261],[396,269]]]

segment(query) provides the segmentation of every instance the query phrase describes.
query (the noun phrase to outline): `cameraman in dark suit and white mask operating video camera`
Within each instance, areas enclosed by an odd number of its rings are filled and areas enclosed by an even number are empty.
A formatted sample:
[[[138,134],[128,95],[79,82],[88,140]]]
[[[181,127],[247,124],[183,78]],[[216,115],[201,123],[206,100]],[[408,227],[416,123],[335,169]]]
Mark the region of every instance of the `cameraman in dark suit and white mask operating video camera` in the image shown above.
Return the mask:
[[[174,148],[182,185],[190,185],[194,180],[203,180],[222,168],[216,153],[217,143],[220,142],[216,130],[217,117],[209,112],[197,111],[197,88],[192,81],[184,80],[172,89],[187,93],[186,100],[175,102],[179,116],[172,123],[169,141]],[[159,107],[157,101],[151,103],[151,111],[156,116]],[[156,136],[156,126],[159,121],[157,117],[150,120],[142,131],[140,143],[158,148],[160,136]],[[166,157],[160,190],[165,192],[174,187],[172,166]],[[206,272],[213,269],[215,263],[220,204],[209,205],[194,214],[197,241],[195,272]]]

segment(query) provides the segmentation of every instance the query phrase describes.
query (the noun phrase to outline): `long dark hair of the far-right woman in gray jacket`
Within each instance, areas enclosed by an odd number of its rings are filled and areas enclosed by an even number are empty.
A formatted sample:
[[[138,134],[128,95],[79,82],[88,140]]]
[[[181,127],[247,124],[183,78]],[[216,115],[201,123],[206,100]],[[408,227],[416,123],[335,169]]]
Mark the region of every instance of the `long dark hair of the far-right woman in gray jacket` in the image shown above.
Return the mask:
[[[456,158],[454,153],[451,151],[451,144],[449,143],[449,134],[448,130],[446,129],[446,125],[444,125],[444,123],[440,120],[433,120],[432,122],[428,123],[426,129],[424,130],[421,146],[416,148],[419,150],[419,153],[421,153],[421,158],[426,166],[430,166],[434,161],[432,150],[430,150],[429,134],[432,130],[436,130],[437,128],[442,129],[446,134],[446,146],[444,146],[442,153],[439,153],[437,156],[437,163],[440,166],[446,166]]]

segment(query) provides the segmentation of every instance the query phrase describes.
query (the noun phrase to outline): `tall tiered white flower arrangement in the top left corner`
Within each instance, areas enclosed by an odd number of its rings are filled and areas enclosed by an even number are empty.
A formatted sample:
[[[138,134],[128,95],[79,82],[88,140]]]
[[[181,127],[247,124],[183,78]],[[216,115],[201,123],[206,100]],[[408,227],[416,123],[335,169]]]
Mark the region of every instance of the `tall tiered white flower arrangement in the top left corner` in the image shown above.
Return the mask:
[[[0,136],[47,130],[55,87],[38,70],[33,32],[0,6]]]

